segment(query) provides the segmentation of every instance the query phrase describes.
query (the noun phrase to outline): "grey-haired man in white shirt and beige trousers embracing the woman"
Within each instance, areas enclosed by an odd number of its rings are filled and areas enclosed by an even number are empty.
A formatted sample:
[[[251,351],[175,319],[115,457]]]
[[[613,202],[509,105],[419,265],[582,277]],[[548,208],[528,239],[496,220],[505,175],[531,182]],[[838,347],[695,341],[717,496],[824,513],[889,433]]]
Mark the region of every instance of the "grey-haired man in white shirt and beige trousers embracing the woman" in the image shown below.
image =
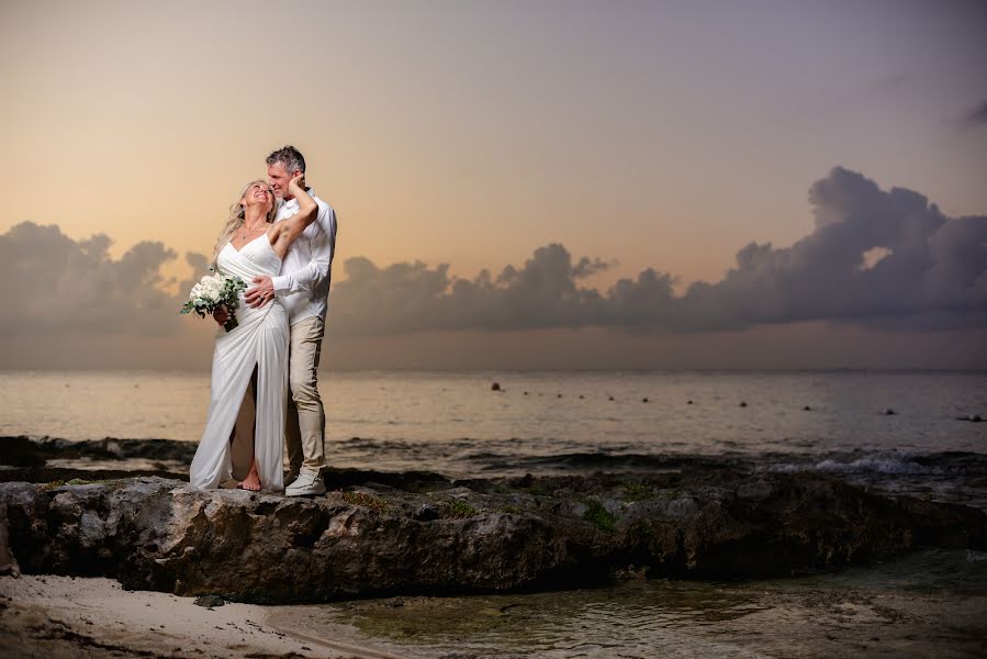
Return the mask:
[[[288,182],[305,174],[305,158],[293,146],[267,157],[268,182],[283,200],[276,222],[299,212],[298,200],[288,191]],[[304,179],[302,179],[304,185]],[[255,277],[245,293],[247,304],[261,306],[273,295],[288,311],[291,343],[288,356],[288,384],[291,396],[284,436],[291,472],[285,480],[289,496],[324,494],[322,470],[326,467],[326,417],[318,396],[316,369],[325,336],[333,254],[336,252],[336,212],[306,188],[318,204],[318,213],[289,248],[278,277]],[[217,317],[216,321],[220,321]],[[225,322],[225,321],[222,321]]]

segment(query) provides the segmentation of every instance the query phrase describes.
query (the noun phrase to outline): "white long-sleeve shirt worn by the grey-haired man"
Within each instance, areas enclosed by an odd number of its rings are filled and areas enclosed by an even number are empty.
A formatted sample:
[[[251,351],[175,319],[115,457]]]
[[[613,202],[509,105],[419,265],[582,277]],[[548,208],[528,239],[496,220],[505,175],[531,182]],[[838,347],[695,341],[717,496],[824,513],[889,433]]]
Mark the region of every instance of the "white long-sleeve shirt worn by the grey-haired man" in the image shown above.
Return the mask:
[[[315,221],[305,227],[288,248],[281,272],[271,278],[278,300],[288,310],[288,322],[294,325],[312,316],[326,320],[329,306],[329,281],[336,252],[336,211],[312,190],[309,194],[318,205]],[[299,201],[281,204],[276,222],[299,212]]]

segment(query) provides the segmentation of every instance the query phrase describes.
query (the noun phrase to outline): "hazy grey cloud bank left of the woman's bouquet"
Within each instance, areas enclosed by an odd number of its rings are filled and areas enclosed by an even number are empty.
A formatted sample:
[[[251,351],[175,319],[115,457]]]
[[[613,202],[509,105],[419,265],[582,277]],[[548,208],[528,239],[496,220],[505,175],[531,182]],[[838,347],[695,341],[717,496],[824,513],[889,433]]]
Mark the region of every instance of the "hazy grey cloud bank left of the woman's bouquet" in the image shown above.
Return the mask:
[[[0,333],[173,333],[176,300],[162,289],[160,268],[175,253],[144,242],[113,260],[110,245],[103,234],[76,242],[57,226],[31,222],[0,235]]]

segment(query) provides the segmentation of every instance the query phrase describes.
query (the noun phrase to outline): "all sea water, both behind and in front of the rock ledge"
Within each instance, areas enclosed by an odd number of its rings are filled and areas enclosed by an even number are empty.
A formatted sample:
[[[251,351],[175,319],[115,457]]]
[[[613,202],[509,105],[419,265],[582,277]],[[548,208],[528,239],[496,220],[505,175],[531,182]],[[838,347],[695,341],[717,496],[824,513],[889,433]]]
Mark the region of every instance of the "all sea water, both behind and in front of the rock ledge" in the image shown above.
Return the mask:
[[[450,478],[668,468],[704,456],[987,510],[987,372],[322,372],[333,467]],[[494,383],[500,391],[494,390]],[[0,435],[198,442],[208,372],[0,375]],[[85,465],[74,463],[75,467]],[[272,608],[410,657],[976,657],[987,555],[742,583]]]

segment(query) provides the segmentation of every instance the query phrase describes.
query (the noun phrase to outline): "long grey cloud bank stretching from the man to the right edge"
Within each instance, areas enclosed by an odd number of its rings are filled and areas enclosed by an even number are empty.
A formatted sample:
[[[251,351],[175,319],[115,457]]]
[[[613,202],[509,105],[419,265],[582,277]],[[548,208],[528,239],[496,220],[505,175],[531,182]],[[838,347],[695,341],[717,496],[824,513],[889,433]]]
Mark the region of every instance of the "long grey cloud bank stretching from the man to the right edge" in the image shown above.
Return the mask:
[[[496,277],[452,278],[448,265],[345,264],[334,284],[330,332],[389,335],[426,330],[586,326],[713,332],[805,321],[905,328],[983,326],[987,319],[987,216],[947,217],[918,192],[841,167],[809,191],[815,230],[790,247],[751,243],[716,283],[683,295],[646,269],[606,292],[582,288],[587,264],[558,244]],[[879,257],[879,258],[875,258]],[[599,266],[602,269],[605,266]]]

